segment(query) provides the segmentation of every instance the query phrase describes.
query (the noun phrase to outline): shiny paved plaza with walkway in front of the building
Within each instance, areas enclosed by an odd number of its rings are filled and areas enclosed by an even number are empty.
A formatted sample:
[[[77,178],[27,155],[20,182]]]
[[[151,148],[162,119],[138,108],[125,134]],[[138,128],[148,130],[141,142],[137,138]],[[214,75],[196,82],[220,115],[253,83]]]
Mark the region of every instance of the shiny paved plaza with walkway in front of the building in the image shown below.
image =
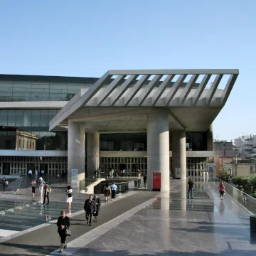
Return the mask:
[[[197,178],[194,183],[193,199],[186,198],[186,181],[178,180],[171,180],[170,192],[126,193],[116,202],[104,203],[99,222],[92,227],[80,211],[85,195],[79,195],[73,209],[78,214],[71,217],[72,236],[62,255],[255,255],[250,213],[228,195],[220,201],[215,182]],[[3,202],[1,198],[1,206]],[[7,220],[14,225],[16,220],[21,232],[2,239],[0,255],[60,255],[55,218],[61,207],[67,207],[63,202],[49,205],[48,224],[47,210],[40,214],[39,202],[10,204],[16,208],[0,216],[1,225]],[[37,223],[44,224],[35,228]],[[32,226],[31,232],[23,231]]]

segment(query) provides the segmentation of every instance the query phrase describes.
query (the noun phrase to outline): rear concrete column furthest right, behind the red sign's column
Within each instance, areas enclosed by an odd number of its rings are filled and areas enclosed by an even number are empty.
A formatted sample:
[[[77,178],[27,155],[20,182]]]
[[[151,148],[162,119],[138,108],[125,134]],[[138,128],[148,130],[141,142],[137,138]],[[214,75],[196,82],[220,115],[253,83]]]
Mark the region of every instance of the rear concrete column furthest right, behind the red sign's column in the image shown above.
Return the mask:
[[[173,131],[172,134],[172,172],[176,177],[176,168],[180,168],[181,179],[186,179],[186,132]]]

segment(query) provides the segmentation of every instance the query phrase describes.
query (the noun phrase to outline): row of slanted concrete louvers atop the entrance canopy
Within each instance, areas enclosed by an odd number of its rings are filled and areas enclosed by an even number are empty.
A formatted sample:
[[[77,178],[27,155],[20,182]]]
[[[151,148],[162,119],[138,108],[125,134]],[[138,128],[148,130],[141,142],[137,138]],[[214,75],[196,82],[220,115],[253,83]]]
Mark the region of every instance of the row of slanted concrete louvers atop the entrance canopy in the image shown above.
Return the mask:
[[[210,69],[109,70],[81,100],[88,107],[220,107],[225,105],[238,74],[239,70]],[[188,75],[191,78],[184,82]],[[204,75],[203,80],[196,83],[199,75]],[[218,90],[223,75],[230,78],[225,89]],[[213,82],[206,89],[210,78]]]

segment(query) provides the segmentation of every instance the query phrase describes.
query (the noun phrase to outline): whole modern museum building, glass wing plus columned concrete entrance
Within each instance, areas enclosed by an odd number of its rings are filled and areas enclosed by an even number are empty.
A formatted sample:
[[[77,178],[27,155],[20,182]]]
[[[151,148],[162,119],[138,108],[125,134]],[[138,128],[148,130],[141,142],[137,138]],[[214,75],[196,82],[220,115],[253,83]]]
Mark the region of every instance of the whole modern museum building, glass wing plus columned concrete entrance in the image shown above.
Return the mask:
[[[225,76],[227,84],[218,88]],[[68,174],[71,182],[78,170],[78,186],[97,169],[126,169],[130,176],[139,169],[147,173],[149,189],[152,172],[161,172],[161,189],[168,190],[170,171],[176,178],[206,171],[213,157],[211,124],[237,77],[238,70],[0,75],[1,136],[13,143],[0,143],[0,175],[44,170]],[[20,145],[14,129],[35,145]]]

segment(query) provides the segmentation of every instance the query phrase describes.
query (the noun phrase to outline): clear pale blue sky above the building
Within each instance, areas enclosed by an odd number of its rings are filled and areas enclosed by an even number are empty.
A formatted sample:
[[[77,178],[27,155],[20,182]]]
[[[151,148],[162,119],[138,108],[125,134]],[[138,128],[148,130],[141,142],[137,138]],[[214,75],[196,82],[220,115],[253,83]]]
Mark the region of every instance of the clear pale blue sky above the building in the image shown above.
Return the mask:
[[[215,139],[256,134],[256,1],[0,0],[0,73],[238,68]]]

